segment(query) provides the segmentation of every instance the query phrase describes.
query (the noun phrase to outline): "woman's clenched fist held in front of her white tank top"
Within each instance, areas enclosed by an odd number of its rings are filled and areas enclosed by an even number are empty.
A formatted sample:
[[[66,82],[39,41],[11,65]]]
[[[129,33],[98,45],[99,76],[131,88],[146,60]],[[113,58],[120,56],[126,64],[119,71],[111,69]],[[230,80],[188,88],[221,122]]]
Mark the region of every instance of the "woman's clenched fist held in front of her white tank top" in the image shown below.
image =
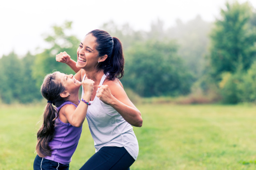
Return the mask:
[[[110,88],[108,85],[98,86],[98,90],[96,96],[103,101],[105,104],[110,105],[113,99],[113,95],[111,94]]]

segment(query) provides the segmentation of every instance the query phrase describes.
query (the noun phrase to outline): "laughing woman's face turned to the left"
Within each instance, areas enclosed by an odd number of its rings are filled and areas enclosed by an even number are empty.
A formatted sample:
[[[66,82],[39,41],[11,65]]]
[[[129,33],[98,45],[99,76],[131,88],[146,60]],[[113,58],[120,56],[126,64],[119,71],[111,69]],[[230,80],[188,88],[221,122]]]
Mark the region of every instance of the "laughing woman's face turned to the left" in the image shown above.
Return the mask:
[[[96,38],[92,34],[86,35],[77,49],[77,68],[90,70],[96,67],[99,60],[96,46]]]

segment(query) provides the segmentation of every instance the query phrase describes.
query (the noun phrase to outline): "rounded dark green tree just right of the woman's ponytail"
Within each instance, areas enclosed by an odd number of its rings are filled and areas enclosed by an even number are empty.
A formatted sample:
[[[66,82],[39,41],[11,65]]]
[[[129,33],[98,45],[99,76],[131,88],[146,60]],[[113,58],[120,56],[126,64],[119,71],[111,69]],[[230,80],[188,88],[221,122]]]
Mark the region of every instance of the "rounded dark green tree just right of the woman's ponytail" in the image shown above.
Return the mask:
[[[188,94],[192,77],[177,55],[177,44],[148,40],[125,54],[124,86],[142,97]]]

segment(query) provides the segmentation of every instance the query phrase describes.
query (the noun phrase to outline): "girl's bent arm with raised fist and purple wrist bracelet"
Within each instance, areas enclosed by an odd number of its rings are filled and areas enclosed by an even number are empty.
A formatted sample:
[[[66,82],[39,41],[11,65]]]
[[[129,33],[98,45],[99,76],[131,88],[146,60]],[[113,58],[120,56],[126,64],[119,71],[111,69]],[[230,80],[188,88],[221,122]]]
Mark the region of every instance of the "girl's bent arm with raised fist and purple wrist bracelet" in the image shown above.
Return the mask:
[[[85,79],[82,81],[82,86],[84,88],[84,95],[83,100],[86,102],[90,101],[91,94],[93,92],[93,84],[94,81],[91,79]],[[65,107],[63,114],[66,116],[68,122],[75,127],[82,126],[87,112],[88,104],[84,103],[83,101],[80,101],[77,108],[75,108],[74,105],[69,105],[69,107]]]

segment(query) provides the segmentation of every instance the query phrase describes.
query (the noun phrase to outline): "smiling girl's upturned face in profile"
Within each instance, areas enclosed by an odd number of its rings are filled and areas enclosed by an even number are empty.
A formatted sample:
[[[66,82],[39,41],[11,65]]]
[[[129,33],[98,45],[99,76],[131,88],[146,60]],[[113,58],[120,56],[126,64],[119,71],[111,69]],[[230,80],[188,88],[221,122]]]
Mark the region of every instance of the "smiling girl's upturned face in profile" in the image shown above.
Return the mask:
[[[67,75],[61,72],[57,72],[56,77],[59,81],[62,82],[63,86],[65,87],[65,90],[69,93],[76,93],[82,85],[80,81],[75,79],[73,74]]]

